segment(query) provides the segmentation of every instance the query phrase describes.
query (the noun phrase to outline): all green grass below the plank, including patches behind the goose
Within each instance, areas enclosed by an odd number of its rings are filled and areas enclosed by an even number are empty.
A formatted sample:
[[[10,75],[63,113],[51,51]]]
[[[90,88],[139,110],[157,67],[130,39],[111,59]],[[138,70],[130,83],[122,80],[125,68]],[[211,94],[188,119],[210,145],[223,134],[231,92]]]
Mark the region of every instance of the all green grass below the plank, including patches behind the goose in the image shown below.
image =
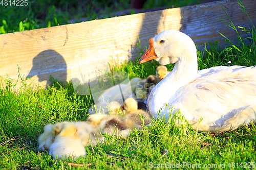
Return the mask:
[[[232,27],[232,23],[229,24]],[[215,42],[209,44],[211,50],[205,47],[204,51],[198,51],[199,69],[228,61],[231,65],[255,65],[255,27],[247,28],[247,32],[249,44],[238,35],[238,44],[229,42],[229,46],[222,48]],[[144,49],[141,47],[138,56]],[[157,62],[138,65],[138,59],[114,66],[112,70],[126,71],[130,78],[155,74]],[[171,70],[173,65],[167,67]],[[180,126],[172,120],[165,124],[158,119],[151,127],[132,131],[126,139],[106,135],[103,143],[86,147],[87,156],[76,161],[52,159],[48,152],[37,150],[37,137],[43,127],[64,120],[86,120],[88,109],[93,105],[91,96],[77,95],[71,82],[52,78],[53,85],[46,90],[34,89],[22,76],[19,79],[23,81],[18,92],[14,91],[15,81],[0,81],[0,169],[150,169],[163,167],[161,164],[165,163],[180,163],[184,169],[188,167],[184,166],[186,163],[195,169],[200,165],[201,169],[205,169],[204,165],[215,169],[244,169],[240,165],[248,167],[246,163],[256,161],[255,124],[211,136],[191,129],[183,117],[180,117],[184,122]],[[225,168],[221,168],[224,163]]]

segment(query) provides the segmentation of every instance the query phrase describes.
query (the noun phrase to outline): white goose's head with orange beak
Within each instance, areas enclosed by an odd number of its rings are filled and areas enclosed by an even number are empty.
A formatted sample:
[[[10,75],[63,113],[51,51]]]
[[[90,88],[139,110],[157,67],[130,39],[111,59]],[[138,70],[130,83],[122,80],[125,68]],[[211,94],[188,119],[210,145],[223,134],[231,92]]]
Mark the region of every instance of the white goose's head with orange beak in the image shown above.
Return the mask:
[[[176,63],[184,53],[196,52],[193,40],[186,34],[176,30],[166,30],[149,41],[150,47],[140,58],[139,64],[155,59],[161,65]]]

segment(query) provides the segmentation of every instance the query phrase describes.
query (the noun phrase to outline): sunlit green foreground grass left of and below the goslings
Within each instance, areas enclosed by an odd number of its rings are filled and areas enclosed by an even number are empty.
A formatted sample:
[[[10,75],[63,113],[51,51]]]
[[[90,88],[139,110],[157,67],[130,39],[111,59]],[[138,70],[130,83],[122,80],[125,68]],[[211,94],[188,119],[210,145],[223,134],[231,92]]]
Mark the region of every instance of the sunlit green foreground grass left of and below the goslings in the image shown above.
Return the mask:
[[[47,152],[37,150],[42,128],[63,120],[86,120],[92,104],[90,96],[69,93],[71,84],[62,87],[57,82],[48,90],[32,90],[27,86],[17,93],[5,85],[2,84],[0,95],[1,169],[60,169],[74,168],[76,164],[79,168],[88,164],[86,168],[138,169],[153,166],[150,162],[218,166],[225,162],[225,169],[229,169],[229,162],[255,162],[255,125],[210,136],[196,132],[186,123],[175,126],[174,121],[165,124],[162,120],[153,122],[152,127],[133,131],[126,139],[106,136],[104,143],[86,147],[87,156],[76,161],[54,160]]]

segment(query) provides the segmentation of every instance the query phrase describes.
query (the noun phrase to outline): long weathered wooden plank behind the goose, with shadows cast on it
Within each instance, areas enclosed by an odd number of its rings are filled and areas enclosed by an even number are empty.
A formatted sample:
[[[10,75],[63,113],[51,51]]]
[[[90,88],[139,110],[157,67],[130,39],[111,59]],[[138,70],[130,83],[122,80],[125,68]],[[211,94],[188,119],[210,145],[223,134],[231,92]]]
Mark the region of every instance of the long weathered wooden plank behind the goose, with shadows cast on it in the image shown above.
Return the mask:
[[[242,3],[256,23],[255,1]],[[240,8],[237,1],[218,1],[0,35],[0,75],[17,79],[18,64],[20,73],[42,85],[50,83],[50,75],[70,81],[79,75],[77,71],[91,71],[93,77],[94,70],[107,68],[108,62],[138,57],[138,37],[143,46],[168,29],[188,34],[196,44],[215,40],[224,43],[218,32],[232,40],[237,35],[227,22],[218,20],[228,19],[223,9],[236,27],[252,26]]]

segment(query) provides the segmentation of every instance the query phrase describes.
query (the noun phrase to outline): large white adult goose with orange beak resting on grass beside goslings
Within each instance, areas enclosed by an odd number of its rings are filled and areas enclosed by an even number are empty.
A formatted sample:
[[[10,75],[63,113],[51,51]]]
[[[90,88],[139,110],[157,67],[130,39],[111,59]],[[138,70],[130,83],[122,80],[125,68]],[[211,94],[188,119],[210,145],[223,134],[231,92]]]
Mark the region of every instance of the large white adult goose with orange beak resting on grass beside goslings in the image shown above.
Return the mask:
[[[180,109],[193,128],[211,133],[232,131],[255,120],[255,66],[218,66],[198,71],[195,43],[184,33],[163,31],[149,42],[139,64],[152,59],[161,65],[175,63],[172,72],[148,96],[152,116],[156,118],[162,108],[160,117],[165,115],[168,120],[171,108],[171,114]]]

